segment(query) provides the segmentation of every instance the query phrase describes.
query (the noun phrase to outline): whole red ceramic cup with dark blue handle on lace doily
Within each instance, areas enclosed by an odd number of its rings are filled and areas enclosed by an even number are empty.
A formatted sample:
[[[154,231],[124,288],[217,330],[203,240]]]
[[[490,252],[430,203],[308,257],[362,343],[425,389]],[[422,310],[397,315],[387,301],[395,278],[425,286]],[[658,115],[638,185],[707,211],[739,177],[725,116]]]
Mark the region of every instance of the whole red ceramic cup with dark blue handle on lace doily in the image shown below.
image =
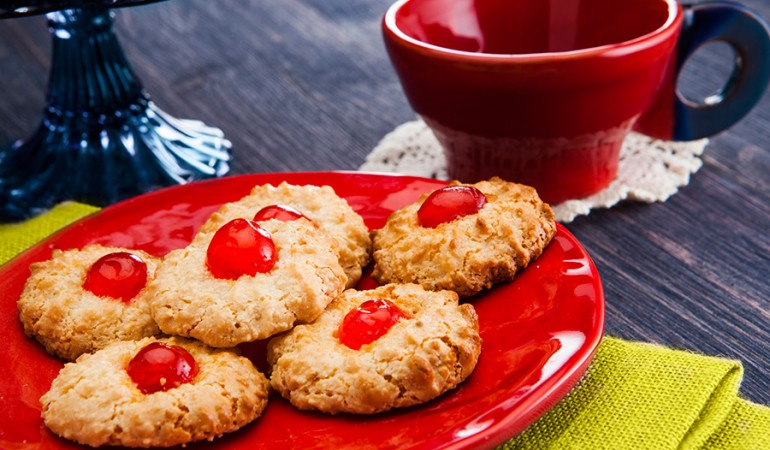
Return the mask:
[[[449,175],[497,175],[550,203],[605,188],[630,130],[713,135],[751,110],[770,79],[767,24],[734,3],[400,0],[382,29]],[[676,78],[709,40],[738,57],[724,91],[696,105],[677,94]]]

